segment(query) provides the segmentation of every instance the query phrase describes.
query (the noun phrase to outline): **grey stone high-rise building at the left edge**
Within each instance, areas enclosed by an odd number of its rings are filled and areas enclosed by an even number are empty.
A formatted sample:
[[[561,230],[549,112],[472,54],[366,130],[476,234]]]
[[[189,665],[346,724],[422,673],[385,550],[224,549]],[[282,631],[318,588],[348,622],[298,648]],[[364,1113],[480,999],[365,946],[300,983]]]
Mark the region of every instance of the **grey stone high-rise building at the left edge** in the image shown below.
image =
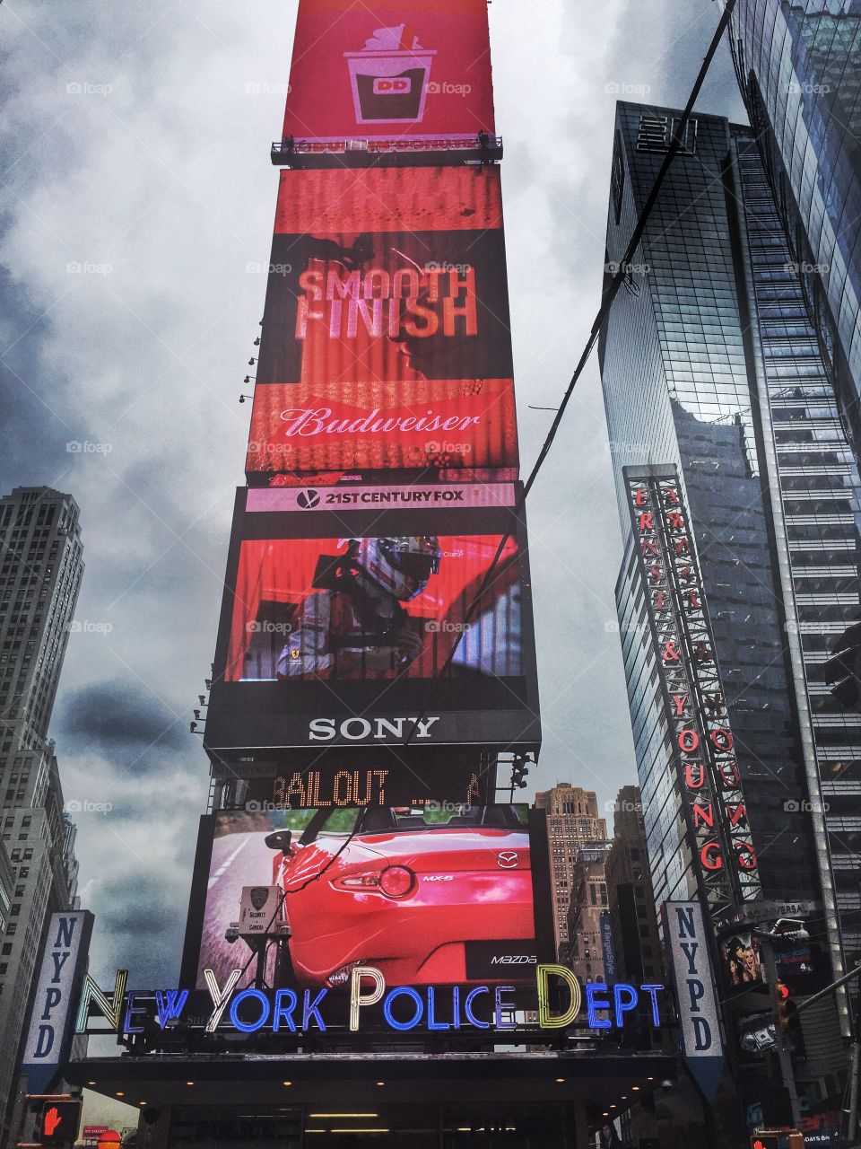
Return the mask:
[[[47,731],[83,573],[70,495],[22,487],[0,499],[0,853],[9,877],[0,939],[3,1140],[47,921],[77,899],[75,827]]]

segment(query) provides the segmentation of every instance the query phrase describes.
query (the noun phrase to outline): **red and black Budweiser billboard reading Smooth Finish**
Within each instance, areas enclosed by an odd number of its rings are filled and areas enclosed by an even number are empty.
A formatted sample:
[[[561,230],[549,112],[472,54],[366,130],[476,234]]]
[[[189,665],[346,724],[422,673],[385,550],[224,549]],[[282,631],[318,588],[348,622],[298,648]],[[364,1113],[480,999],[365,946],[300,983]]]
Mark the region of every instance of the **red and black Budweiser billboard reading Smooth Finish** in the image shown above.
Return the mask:
[[[498,169],[281,172],[247,471],[517,477]]]

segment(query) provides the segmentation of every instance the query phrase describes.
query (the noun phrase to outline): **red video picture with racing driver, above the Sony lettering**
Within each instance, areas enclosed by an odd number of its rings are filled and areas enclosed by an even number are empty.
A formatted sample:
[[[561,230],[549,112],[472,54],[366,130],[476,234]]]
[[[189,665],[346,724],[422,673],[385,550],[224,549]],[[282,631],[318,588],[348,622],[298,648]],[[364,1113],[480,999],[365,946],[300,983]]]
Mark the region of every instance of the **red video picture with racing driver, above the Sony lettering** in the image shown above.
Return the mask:
[[[497,535],[243,540],[224,678],[522,674],[517,542]]]

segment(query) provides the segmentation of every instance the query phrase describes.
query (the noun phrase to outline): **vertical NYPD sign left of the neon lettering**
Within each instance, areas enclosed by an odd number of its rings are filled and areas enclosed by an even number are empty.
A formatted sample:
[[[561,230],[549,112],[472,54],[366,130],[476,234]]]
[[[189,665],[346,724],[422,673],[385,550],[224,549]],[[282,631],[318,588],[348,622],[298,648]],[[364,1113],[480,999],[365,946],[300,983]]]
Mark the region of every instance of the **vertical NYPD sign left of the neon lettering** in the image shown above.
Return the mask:
[[[87,910],[51,916],[21,1065],[31,1093],[44,1089],[68,1057],[76,990],[92,930],[93,915]]]

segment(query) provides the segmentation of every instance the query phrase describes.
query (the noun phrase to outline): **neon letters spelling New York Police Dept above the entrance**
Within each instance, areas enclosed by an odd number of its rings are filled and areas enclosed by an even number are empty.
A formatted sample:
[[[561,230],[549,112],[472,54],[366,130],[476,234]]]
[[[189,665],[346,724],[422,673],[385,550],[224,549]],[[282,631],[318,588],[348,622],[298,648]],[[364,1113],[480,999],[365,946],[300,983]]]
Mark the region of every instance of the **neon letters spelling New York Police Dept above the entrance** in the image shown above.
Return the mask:
[[[421,1030],[442,1032],[451,1030],[487,1030],[504,1032],[515,1030],[514,1011],[522,1009],[513,998],[514,986],[394,986],[388,988],[383,974],[371,965],[355,966],[350,977],[349,997],[333,995],[328,989],[238,989],[241,970],[233,970],[219,985],[212,970],[204,971],[211,998],[211,1012],[205,1021],[207,1033],[231,1028],[240,1033],[325,1033],[329,1026],[343,1032],[346,1025],[354,1033],[362,1028],[363,1010],[374,1010],[374,1024],[383,1024],[396,1032]],[[551,977],[561,981],[563,997],[567,1005],[553,1011],[550,1002]],[[121,1035],[142,1033],[145,1023],[156,1024],[162,1031],[184,1020],[188,1004],[188,989],[126,989],[127,972],[119,970],[113,994],[100,989],[86,977],[78,1004],[76,1033],[87,1032],[91,1007],[95,1005]],[[587,1027],[595,1031],[619,1030],[626,1016],[647,1003],[653,1026],[660,1025],[658,994],[662,985],[633,986],[627,982],[606,985],[588,982],[581,986],[577,978],[561,965],[536,967],[538,997],[538,1026],[542,1030],[565,1030],[585,1015]],[[344,1003],[347,1016],[343,1016]],[[335,1010],[338,1015],[335,1015]],[[581,1023],[582,1024],[582,1023]],[[100,1032],[104,1032],[101,1030]]]

